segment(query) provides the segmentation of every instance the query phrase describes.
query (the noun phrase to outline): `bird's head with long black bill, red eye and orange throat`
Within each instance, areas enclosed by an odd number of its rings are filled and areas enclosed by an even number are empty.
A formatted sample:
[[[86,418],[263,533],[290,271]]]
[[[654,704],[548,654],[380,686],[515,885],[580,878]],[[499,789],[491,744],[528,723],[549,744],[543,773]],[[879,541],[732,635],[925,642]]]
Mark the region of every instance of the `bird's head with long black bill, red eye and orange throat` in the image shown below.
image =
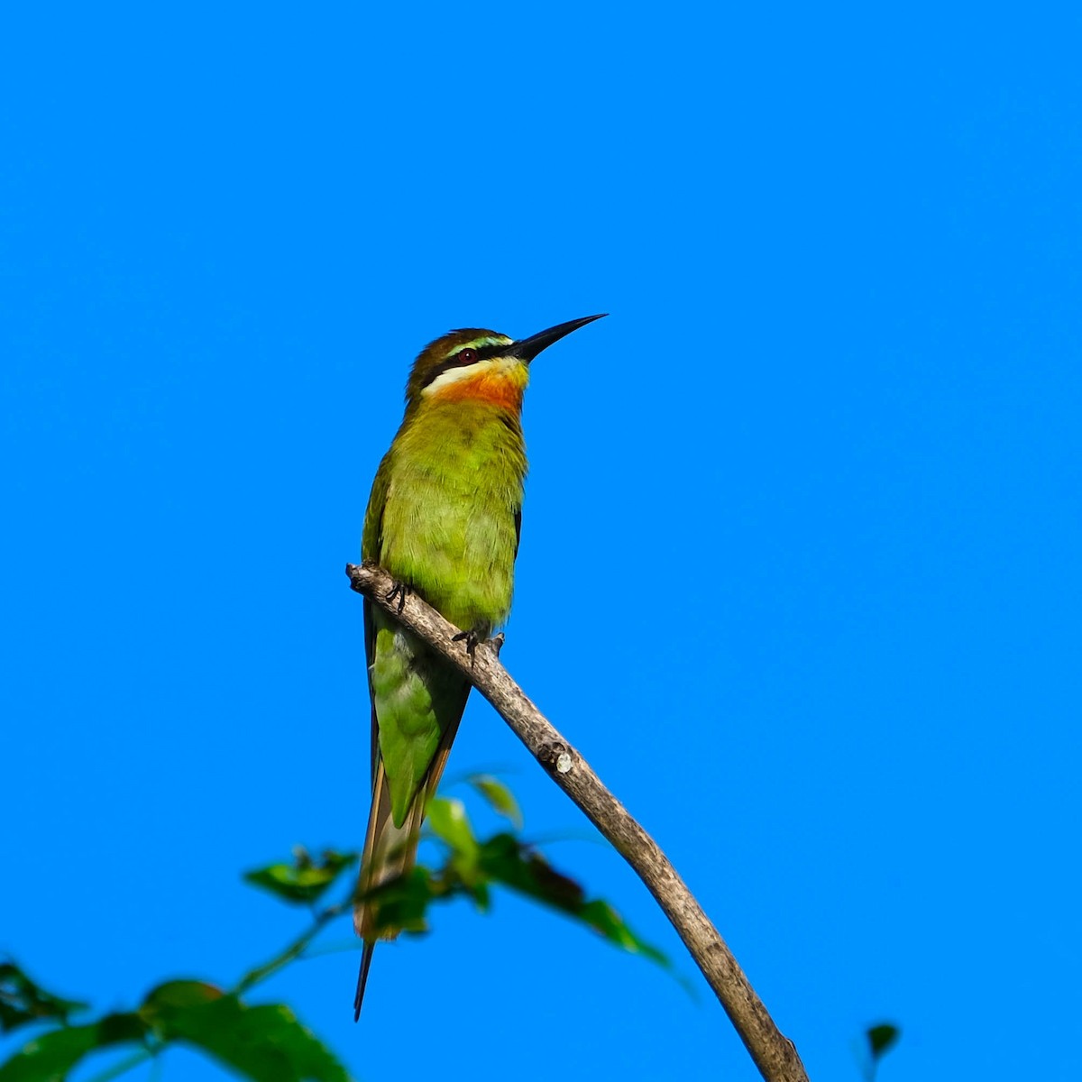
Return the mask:
[[[406,405],[487,401],[517,411],[529,382],[530,361],[565,334],[601,318],[571,319],[517,342],[479,328],[451,331],[426,345],[413,362]]]

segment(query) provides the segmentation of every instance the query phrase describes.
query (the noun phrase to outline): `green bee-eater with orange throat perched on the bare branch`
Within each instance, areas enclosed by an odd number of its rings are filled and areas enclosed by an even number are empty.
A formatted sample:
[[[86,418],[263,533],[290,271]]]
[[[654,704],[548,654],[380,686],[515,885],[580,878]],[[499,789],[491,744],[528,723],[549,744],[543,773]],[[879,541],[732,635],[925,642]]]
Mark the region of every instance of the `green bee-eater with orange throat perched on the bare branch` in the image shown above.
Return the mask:
[[[361,556],[417,593],[472,643],[511,611],[522,524],[526,445],[523,394],[530,361],[601,316],[517,342],[479,329],[445,334],[421,351],[406,385],[406,415],[375,473]],[[372,809],[361,855],[354,926],[364,940],[354,1017],[379,938],[369,893],[409,871],[428,797],[439,783],[470,683],[383,609],[365,601],[372,699]]]

